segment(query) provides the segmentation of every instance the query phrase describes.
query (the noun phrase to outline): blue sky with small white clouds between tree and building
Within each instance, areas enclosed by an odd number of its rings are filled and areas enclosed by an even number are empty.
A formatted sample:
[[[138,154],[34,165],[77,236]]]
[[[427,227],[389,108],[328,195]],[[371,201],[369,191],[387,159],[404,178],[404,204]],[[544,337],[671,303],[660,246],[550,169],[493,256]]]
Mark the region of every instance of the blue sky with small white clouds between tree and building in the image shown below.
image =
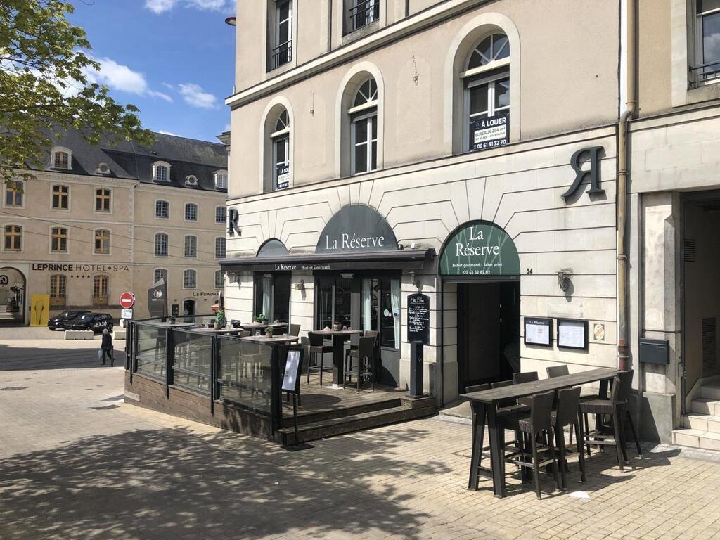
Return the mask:
[[[71,0],[101,63],[95,81],[153,131],[218,142],[228,130],[235,0]]]

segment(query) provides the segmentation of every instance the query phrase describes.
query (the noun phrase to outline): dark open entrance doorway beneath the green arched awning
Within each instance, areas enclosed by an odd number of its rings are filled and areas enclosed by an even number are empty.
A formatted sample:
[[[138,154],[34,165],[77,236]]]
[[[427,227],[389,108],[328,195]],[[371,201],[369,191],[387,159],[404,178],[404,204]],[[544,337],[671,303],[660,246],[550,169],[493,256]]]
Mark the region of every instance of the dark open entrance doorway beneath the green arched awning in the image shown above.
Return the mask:
[[[520,371],[520,283],[457,284],[458,392]]]

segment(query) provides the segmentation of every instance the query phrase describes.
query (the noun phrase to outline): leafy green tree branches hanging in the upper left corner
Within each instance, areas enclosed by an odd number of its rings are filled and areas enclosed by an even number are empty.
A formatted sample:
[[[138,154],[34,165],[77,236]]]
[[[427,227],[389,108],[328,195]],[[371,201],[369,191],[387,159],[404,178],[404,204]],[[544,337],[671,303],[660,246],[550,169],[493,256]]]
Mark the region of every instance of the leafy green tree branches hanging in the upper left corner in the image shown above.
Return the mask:
[[[51,137],[68,128],[91,144],[100,140],[153,142],[138,107],[122,105],[106,86],[89,82],[99,70],[90,56],[82,28],[66,14],[71,4],[59,0],[0,1],[0,178],[32,177],[44,168]],[[20,173],[14,171],[20,169]],[[1,183],[1,182],[0,182]]]

